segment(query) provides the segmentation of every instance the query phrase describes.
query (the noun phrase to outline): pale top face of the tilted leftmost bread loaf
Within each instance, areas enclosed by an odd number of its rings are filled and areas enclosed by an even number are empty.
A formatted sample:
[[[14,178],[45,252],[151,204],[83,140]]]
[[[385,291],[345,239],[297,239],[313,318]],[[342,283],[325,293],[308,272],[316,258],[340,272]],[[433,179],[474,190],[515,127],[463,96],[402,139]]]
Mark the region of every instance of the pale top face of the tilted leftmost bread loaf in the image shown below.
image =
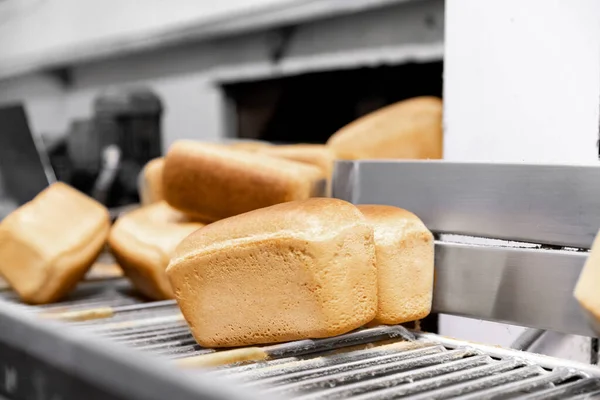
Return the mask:
[[[60,257],[88,245],[109,224],[106,207],[71,186],[56,182],[9,214],[0,227],[13,238],[27,242],[32,251],[43,257]]]

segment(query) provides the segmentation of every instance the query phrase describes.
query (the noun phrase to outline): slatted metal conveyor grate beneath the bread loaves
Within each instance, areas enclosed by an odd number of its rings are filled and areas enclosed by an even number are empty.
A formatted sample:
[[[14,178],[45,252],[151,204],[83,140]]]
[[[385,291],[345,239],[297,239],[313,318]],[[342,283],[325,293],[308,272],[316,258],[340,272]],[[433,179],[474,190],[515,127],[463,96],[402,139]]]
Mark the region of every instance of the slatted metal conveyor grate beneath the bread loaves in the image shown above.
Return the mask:
[[[66,301],[47,306],[5,301],[33,313],[115,307],[109,318],[68,324],[78,330],[155,355],[178,359],[215,350],[194,341],[172,302],[144,303],[124,280],[86,283]],[[134,305],[135,307],[129,307]],[[410,334],[408,334],[410,335]],[[510,350],[419,335],[407,341],[401,327],[377,327],[336,338],[266,346],[270,359],[184,373],[234,378],[248,390],[299,399],[579,399],[600,397],[594,367]]]

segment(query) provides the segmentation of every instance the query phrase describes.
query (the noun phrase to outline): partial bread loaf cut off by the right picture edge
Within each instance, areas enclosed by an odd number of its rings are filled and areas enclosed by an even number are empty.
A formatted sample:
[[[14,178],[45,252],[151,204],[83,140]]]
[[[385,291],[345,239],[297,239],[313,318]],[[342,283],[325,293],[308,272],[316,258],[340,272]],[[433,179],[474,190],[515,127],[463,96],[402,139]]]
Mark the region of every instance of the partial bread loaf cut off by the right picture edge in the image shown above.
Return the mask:
[[[600,234],[594,239],[592,250],[581,270],[574,292],[581,307],[591,314],[596,323],[600,321],[598,283],[600,283]]]

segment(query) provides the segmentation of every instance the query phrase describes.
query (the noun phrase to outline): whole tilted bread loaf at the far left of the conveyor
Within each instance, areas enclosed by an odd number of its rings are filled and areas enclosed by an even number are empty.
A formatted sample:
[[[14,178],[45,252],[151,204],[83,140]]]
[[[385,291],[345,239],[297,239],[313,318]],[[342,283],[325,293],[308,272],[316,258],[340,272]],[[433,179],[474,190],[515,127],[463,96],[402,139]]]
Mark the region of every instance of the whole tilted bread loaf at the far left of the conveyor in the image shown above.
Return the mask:
[[[0,223],[0,275],[27,303],[56,301],[94,263],[109,228],[104,206],[54,183]]]

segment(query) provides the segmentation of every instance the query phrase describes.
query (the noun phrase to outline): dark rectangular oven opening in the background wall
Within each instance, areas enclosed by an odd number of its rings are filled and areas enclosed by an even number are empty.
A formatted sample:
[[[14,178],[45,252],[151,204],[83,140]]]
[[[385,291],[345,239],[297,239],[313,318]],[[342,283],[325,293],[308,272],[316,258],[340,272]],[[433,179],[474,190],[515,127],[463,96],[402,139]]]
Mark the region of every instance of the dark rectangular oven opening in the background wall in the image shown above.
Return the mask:
[[[396,102],[442,97],[443,61],[313,72],[222,85],[230,138],[325,143],[338,129]]]

